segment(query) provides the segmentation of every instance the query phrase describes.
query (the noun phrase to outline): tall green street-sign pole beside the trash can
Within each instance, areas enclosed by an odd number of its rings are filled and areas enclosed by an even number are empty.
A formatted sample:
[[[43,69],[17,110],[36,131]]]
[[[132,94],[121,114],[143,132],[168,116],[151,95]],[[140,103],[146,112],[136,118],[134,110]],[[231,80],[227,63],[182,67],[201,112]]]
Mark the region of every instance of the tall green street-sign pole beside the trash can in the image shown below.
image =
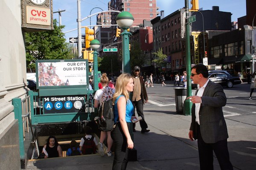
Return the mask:
[[[191,57],[190,57],[190,31],[189,31],[189,0],[185,0],[186,8],[186,72],[187,72],[187,96],[192,96],[191,88]],[[192,102],[190,99],[185,100],[185,115],[191,114]]]

